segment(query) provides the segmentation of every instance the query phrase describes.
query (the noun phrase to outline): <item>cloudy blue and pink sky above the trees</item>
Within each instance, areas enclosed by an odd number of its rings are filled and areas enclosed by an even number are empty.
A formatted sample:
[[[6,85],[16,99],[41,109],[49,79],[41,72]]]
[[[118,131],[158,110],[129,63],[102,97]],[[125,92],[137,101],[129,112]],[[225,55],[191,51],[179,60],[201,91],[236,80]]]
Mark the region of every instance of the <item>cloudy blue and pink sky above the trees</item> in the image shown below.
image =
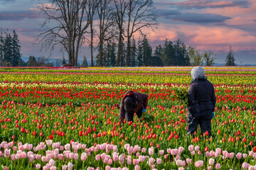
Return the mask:
[[[166,38],[182,40],[196,50],[212,51],[216,63],[225,63],[230,46],[237,64],[256,64],[256,1],[255,0],[153,0],[159,16],[158,26],[147,30],[151,46],[164,44]],[[41,50],[34,44],[42,33],[43,13],[34,8],[47,0],[0,0],[0,31],[16,30],[23,57],[34,55],[53,58],[68,57],[60,49]],[[90,60],[90,50],[82,47]]]

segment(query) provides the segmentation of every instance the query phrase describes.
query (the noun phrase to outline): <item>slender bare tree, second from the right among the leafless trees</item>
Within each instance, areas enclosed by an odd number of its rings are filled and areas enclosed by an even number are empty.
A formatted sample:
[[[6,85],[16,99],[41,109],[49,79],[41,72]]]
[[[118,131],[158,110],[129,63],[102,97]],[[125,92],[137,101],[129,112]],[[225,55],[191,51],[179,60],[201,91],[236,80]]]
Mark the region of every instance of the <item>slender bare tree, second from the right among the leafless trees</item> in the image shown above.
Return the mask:
[[[125,16],[125,11],[128,6],[127,0],[114,0],[114,6],[116,7],[116,12],[115,12],[115,18],[116,18],[116,23],[118,26],[118,49],[117,49],[117,64],[116,66],[119,67],[120,62],[121,62],[121,56],[122,56],[122,49],[123,49],[123,41],[124,41],[124,16]]]

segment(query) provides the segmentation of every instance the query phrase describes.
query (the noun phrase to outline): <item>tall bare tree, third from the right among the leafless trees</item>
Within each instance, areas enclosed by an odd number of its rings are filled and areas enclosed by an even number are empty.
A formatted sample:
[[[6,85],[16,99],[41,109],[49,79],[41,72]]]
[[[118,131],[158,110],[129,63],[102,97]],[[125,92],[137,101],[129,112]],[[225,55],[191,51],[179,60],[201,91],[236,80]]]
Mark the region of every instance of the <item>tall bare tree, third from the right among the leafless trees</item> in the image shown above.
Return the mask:
[[[112,42],[115,37],[114,28],[114,13],[112,9],[112,0],[102,0],[97,8],[97,13],[99,16],[99,64],[100,67],[103,66],[103,45],[105,42]]]

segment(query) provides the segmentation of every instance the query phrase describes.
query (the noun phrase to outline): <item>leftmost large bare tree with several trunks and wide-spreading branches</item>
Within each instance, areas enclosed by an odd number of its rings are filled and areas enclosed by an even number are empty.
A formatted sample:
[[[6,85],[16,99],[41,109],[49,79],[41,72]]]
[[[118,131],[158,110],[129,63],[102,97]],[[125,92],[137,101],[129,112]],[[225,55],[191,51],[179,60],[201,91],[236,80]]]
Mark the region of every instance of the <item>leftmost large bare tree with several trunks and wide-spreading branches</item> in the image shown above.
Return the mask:
[[[89,0],[52,0],[52,5],[41,4],[37,8],[46,15],[42,27],[51,27],[38,35],[38,44],[42,47],[54,49],[60,45],[68,52],[68,64],[78,64],[78,52],[84,34],[90,26],[88,11],[90,10]],[[55,24],[55,26],[53,26]]]

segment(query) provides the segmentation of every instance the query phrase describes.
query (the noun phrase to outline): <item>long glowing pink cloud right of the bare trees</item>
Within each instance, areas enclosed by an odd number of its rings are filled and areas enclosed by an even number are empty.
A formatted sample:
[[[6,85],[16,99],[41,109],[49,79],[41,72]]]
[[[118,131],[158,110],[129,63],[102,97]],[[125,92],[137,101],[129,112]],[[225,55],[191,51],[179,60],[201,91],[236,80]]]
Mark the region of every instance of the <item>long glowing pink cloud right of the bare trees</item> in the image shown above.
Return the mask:
[[[215,53],[228,52],[230,45],[234,51],[256,50],[256,35],[235,28],[183,25],[165,28],[161,26],[156,32],[149,33],[148,38],[151,41],[164,41],[166,38],[174,41],[180,38],[187,46],[195,47],[196,50],[210,50]]]

